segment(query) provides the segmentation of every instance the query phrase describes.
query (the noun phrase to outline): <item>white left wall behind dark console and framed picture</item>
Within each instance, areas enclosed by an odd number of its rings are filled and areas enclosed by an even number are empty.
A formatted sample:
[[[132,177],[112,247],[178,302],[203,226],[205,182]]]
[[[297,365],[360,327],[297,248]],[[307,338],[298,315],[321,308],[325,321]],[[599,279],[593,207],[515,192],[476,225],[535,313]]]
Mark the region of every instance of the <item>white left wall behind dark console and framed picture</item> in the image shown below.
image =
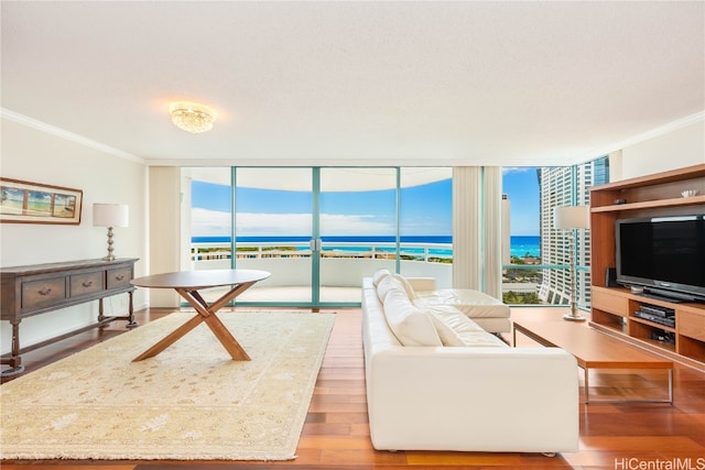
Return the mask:
[[[64,139],[61,130],[50,132],[34,123],[25,125],[3,117],[1,175],[83,190],[78,226],[36,223],[0,225],[0,266],[99,259],[107,254],[107,229],[93,227],[94,203],[119,203],[130,207],[129,227],[115,229],[115,254],[139,258],[135,275],[145,274],[147,166],[139,159],[116,156],[107,151]],[[145,293],[138,289],[134,308],[145,306]],[[106,314],[127,311],[127,295],[105,300]],[[56,310],[22,320],[20,343],[29,346],[95,321],[98,303]],[[10,351],[11,328],[0,323],[0,349]]]

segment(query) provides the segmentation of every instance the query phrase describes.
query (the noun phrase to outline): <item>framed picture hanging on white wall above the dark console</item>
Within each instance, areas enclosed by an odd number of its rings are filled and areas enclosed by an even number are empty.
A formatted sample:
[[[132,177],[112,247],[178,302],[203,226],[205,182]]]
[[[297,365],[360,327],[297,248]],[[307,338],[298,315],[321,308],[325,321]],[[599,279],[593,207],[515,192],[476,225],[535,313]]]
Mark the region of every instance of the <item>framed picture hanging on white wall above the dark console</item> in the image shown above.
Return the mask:
[[[0,222],[80,223],[80,189],[0,177]]]

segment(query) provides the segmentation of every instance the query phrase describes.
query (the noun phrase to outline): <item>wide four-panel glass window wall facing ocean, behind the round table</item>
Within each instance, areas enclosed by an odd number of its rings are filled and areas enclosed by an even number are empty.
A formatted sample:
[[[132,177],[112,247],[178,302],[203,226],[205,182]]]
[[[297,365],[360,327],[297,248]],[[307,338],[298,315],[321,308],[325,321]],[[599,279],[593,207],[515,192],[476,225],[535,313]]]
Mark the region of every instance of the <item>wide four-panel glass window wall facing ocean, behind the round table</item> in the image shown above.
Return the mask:
[[[381,267],[451,284],[451,168],[184,172],[192,267],[272,273],[238,304],[359,305],[361,278]]]

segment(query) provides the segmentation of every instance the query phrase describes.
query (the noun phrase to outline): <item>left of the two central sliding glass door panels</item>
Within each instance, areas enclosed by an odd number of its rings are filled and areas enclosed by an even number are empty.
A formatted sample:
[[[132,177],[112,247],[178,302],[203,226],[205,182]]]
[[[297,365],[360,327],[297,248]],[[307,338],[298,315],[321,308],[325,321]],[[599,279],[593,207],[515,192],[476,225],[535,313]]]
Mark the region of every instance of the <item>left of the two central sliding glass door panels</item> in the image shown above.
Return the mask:
[[[238,303],[314,303],[312,168],[234,168],[235,266],[272,273]],[[273,288],[275,287],[275,288]]]

